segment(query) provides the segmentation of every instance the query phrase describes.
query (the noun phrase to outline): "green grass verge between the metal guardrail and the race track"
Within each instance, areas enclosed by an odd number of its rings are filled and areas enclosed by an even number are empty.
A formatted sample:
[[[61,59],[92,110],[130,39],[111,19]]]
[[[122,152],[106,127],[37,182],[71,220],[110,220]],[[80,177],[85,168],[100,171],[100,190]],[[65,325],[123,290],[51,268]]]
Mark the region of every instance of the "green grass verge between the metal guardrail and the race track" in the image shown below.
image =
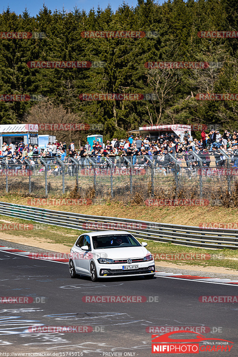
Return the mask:
[[[7,225],[8,223],[30,224],[34,226],[34,229],[12,230],[12,231],[2,229],[4,228],[4,225]],[[70,228],[63,228],[53,225],[46,225],[46,224],[44,225],[42,223],[37,223],[30,220],[27,221],[27,220],[22,220],[20,218],[2,216],[2,215],[0,215],[0,225],[1,225],[2,232],[9,235],[19,236],[19,243],[21,243],[20,237],[24,236],[27,238],[36,238],[37,240],[41,240],[41,239],[46,240],[49,243],[64,244],[67,247],[71,247],[72,245],[74,245],[77,237],[80,234],[87,232],[83,230],[74,230]],[[1,234],[0,234],[0,239],[1,239]],[[143,241],[142,239],[138,239],[138,240],[140,242]],[[191,265],[191,266],[201,266],[201,267],[216,266],[216,267],[238,270],[238,250],[232,250],[232,249],[208,250],[208,249],[200,249],[196,247],[192,248],[187,246],[177,246],[171,243],[161,243],[151,240],[145,240],[145,241],[148,243],[147,248],[152,254],[160,255],[160,259],[159,256],[157,257],[155,256],[155,261],[158,263],[170,262],[179,265]],[[28,245],[31,245],[30,240]],[[175,254],[177,256],[174,256]],[[194,254],[197,256],[192,256],[193,258],[188,260],[186,259],[187,254],[189,255]],[[209,257],[209,255],[211,255],[211,258]],[[206,259],[204,259],[205,256]]]

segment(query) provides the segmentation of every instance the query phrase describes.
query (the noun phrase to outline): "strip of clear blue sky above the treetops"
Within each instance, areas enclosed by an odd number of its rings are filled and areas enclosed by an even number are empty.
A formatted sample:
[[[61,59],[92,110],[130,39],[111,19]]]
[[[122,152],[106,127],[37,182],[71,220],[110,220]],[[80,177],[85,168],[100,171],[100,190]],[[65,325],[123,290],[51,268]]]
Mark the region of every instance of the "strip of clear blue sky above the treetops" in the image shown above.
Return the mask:
[[[76,5],[79,9],[85,9],[86,12],[88,12],[92,7],[94,7],[94,9],[96,10],[98,5],[100,5],[100,7],[104,10],[109,2],[110,1],[108,0],[45,0],[45,5],[48,9],[52,11],[54,11],[55,9],[62,10],[63,7],[66,11],[73,11]],[[129,6],[135,7],[137,5],[137,0],[128,0],[125,2]],[[163,1],[159,0],[158,2],[162,3]],[[115,12],[118,6],[123,3],[123,0],[111,1],[110,3],[112,10]],[[3,2],[1,2],[0,12],[6,10],[7,6],[10,7],[11,11],[16,12],[16,14],[18,15],[21,14],[26,7],[30,13],[30,16],[36,16],[36,14],[38,14],[39,12],[39,9],[43,6],[43,1],[40,2],[32,0],[10,0],[6,1],[5,5],[3,5]]]

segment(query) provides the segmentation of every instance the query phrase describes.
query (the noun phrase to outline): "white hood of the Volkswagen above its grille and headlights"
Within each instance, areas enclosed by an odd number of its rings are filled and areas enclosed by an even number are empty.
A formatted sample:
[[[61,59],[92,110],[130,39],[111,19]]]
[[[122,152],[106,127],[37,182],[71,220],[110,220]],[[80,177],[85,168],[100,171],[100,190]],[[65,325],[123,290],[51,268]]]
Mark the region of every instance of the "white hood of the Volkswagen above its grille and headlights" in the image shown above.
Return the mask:
[[[117,247],[95,250],[95,254],[108,259],[144,258],[150,252],[145,247]]]

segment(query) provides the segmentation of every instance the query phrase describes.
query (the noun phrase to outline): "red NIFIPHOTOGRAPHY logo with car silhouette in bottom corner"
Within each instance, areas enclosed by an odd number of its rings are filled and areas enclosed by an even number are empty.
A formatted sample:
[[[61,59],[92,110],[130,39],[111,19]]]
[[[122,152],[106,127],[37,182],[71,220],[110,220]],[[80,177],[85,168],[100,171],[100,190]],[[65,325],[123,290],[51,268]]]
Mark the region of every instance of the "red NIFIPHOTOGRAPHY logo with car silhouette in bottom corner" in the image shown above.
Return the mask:
[[[170,338],[171,335],[176,333],[179,333],[180,335],[181,333],[190,333],[192,335],[196,334],[197,336],[196,338],[187,339]],[[199,342],[203,342],[203,345],[200,347]],[[222,340],[221,338],[208,338],[200,333],[184,330],[168,332],[161,336],[151,335],[151,343],[152,353],[199,353],[199,351],[229,352],[233,347],[233,345],[229,345],[230,343],[233,343],[231,341]]]

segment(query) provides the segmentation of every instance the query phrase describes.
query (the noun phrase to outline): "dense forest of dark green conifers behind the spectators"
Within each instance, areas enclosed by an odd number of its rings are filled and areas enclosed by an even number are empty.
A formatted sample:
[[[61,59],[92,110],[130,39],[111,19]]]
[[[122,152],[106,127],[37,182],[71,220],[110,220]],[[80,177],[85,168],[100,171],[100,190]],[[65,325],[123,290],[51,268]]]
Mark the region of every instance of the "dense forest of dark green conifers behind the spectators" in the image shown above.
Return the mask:
[[[0,14],[0,32],[45,32],[43,39],[0,39],[0,95],[41,95],[42,101],[0,101],[0,124],[100,124],[105,139],[140,126],[202,123],[238,129],[237,101],[198,101],[198,93],[238,93],[238,38],[201,38],[199,31],[237,31],[235,0],[138,0],[113,13],[110,6],[66,13],[46,6]],[[82,31],[156,31],[143,38],[84,38]],[[29,61],[96,61],[85,68],[30,68]],[[147,62],[214,62],[203,69],[148,68]],[[83,101],[83,93],[139,93],[156,100]],[[39,132],[44,134],[44,132]],[[49,132],[55,135],[55,132]],[[62,133],[63,134],[63,133]],[[93,132],[68,132],[85,140]],[[199,137],[199,136],[198,136]]]

